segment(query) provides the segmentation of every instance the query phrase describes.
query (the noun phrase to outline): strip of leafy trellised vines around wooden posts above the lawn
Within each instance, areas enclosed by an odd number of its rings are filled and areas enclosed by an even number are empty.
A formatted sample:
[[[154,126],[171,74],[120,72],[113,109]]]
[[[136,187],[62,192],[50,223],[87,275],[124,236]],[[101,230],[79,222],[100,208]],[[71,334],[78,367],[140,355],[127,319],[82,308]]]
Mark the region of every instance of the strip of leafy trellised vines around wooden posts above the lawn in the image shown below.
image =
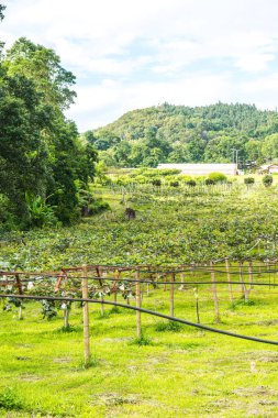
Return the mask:
[[[64,328],[67,329],[71,309],[71,301],[68,299],[85,297],[85,286],[87,298],[101,301],[101,316],[104,315],[104,299],[110,296],[113,297],[114,302],[120,297],[127,305],[136,300],[137,306],[141,307],[143,295],[149,296],[151,292],[154,293],[163,286],[164,292],[169,290],[169,315],[174,316],[175,289],[180,292],[193,289],[194,298],[198,299],[198,285],[210,285],[207,297],[211,296],[213,300],[218,322],[220,320],[218,285],[223,288],[226,284],[226,300],[231,304],[236,299],[248,302],[249,294],[256,285],[265,285],[269,288],[278,285],[276,284],[277,273],[277,260],[268,260],[264,263],[252,261],[231,263],[227,258],[224,264],[210,262],[205,266],[178,266],[175,270],[173,267],[162,270],[154,266],[96,265],[64,268],[58,273],[1,272],[0,294],[9,295],[4,300],[3,309],[12,310],[14,306],[19,311],[19,319],[22,319],[23,296],[26,296],[26,299],[40,297],[43,317],[49,320],[57,316],[57,309],[60,309],[64,311]],[[60,301],[55,300],[55,297],[59,297]]]

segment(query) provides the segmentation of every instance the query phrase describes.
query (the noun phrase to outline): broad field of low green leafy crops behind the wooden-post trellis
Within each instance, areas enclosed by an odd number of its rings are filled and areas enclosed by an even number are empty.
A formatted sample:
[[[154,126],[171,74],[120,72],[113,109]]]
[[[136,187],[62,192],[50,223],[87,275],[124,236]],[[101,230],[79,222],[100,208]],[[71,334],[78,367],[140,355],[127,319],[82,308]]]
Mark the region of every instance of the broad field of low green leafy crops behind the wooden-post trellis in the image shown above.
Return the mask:
[[[111,210],[78,228],[2,235],[0,267],[59,271],[82,264],[182,265],[220,258],[274,258],[278,243],[277,186],[178,188],[102,187]],[[129,221],[131,207],[136,218]]]

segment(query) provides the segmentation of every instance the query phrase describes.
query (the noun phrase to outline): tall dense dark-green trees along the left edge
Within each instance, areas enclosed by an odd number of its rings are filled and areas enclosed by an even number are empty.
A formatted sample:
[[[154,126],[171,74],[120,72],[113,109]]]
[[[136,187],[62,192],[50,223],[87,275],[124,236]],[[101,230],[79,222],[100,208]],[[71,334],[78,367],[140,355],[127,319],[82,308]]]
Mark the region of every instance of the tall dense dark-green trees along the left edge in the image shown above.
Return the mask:
[[[53,50],[24,37],[0,44],[1,228],[71,223],[90,200],[97,153],[64,116],[74,84]]]

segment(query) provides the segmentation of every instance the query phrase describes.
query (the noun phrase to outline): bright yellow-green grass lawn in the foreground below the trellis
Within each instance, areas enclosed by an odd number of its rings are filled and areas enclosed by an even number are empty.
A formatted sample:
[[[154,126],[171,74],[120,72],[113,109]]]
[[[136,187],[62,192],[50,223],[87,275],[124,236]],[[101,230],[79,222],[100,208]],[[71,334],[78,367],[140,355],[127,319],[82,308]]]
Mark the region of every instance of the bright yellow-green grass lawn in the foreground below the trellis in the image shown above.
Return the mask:
[[[240,295],[240,288],[235,288]],[[255,288],[251,302],[231,306],[219,286],[222,322],[237,333],[278,340],[277,292]],[[175,292],[175,315],[196,321],[193,289]],[[134,301],[132,301],[134,304]],[[213,324],[209,286],[200,286],[201,323]],[[82,367],[82,314],[74,306],[73,332],[62,332],[62,314],[42,319],[38,302],[24,319],[0,315],[1,417],[276,417],[278,350],[194,328],[176,330],[142,316],[147,345],[134,343],[135,312],[100,316],[90,306],[92,365]],[[169,292],[154,289],[143,307],[168,314]],[[5,403],[5,404],[4,404]],[[16,410],[18,408],[18,410]]]

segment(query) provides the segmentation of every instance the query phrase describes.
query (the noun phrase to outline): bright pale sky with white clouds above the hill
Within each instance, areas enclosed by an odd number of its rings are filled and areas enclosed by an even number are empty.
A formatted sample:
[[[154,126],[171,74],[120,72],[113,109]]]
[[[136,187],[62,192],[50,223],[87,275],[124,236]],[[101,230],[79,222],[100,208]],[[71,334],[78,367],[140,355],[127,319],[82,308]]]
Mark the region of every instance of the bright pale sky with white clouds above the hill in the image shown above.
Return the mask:
[[[80,132],[164,102],[278,106],[277,0],[1,0],[0,40],[53,48]]]

